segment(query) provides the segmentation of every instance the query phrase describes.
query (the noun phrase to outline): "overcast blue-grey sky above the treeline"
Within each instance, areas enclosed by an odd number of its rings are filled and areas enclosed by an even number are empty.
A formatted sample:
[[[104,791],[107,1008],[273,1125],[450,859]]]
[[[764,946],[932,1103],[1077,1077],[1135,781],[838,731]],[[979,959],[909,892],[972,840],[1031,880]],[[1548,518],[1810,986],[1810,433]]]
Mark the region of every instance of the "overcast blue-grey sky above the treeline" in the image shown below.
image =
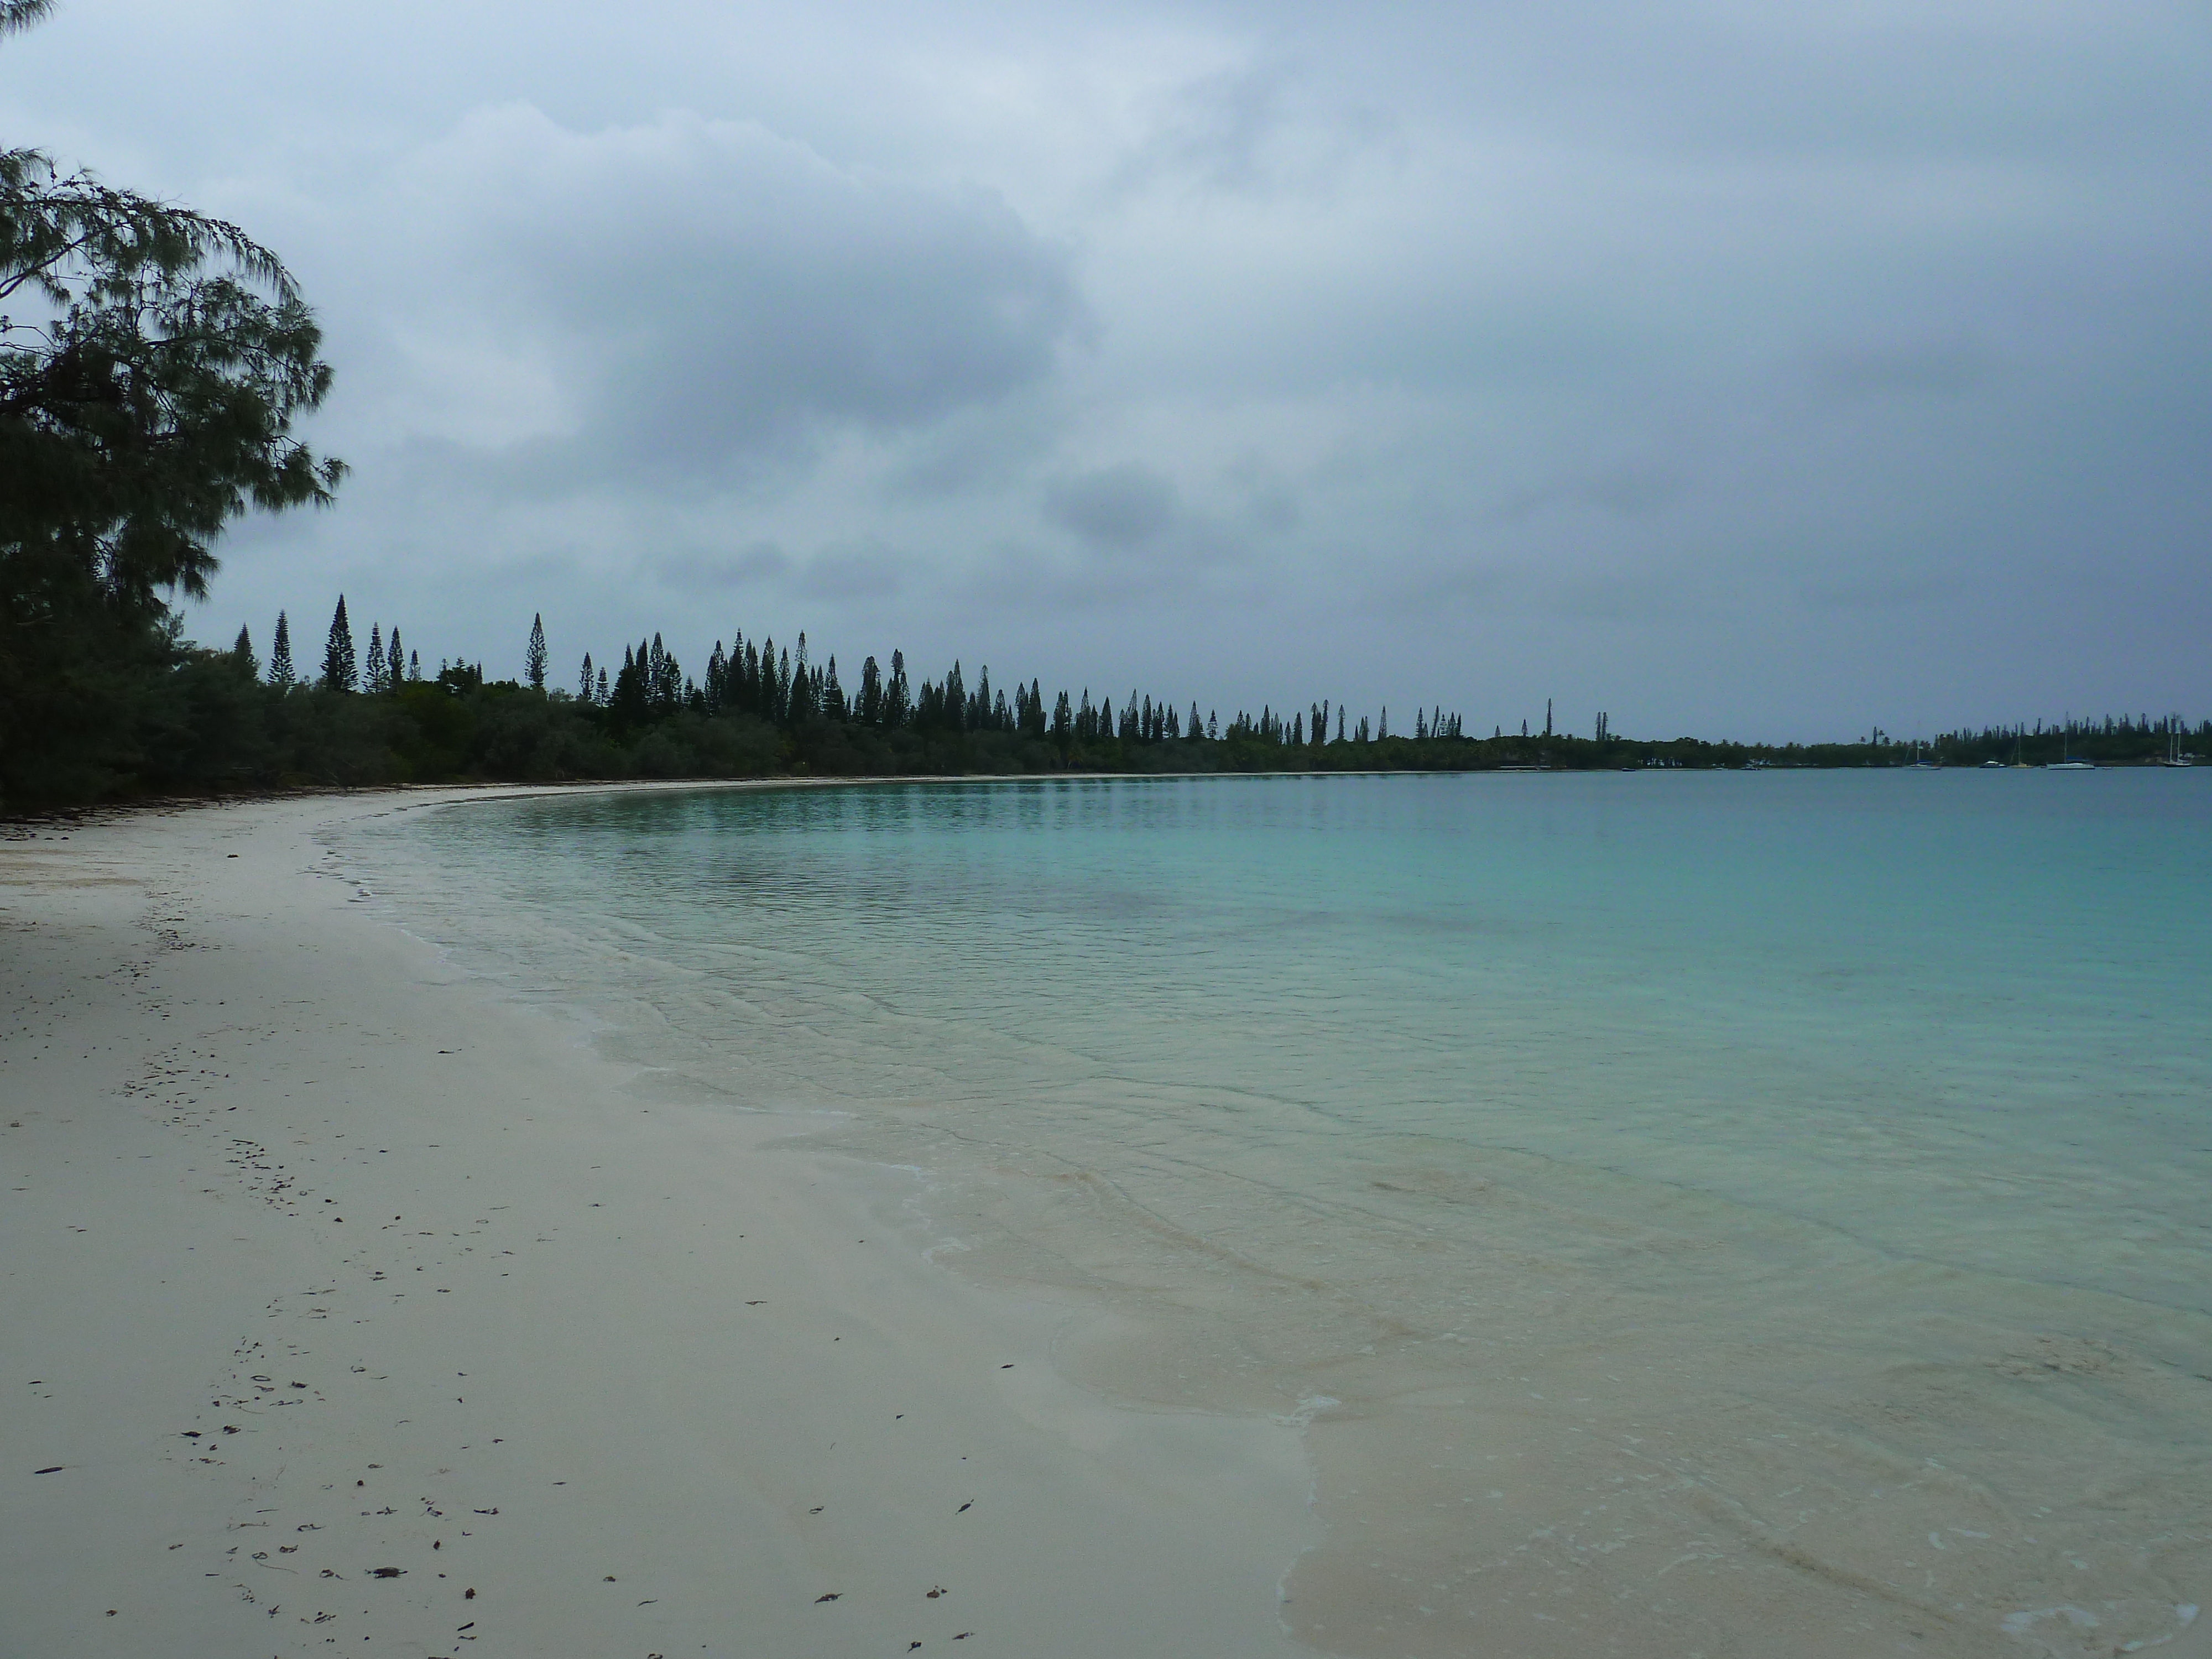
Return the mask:
[[[321,310],[204,639],[2212,714],[2203,4],[64,0],[0,133]]]

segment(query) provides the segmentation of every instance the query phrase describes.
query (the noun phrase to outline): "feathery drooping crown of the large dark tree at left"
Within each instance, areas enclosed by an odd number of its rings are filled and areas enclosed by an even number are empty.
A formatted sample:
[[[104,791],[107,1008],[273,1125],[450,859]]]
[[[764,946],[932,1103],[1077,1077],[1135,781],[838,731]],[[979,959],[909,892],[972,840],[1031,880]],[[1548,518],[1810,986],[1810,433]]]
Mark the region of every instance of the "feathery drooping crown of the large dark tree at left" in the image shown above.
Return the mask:
[[[330,389],[314,314],[232,223],[4,150],[0,307],[11,555],[199,597],[228,520],[327,502],[345,471],[290,431]]]

